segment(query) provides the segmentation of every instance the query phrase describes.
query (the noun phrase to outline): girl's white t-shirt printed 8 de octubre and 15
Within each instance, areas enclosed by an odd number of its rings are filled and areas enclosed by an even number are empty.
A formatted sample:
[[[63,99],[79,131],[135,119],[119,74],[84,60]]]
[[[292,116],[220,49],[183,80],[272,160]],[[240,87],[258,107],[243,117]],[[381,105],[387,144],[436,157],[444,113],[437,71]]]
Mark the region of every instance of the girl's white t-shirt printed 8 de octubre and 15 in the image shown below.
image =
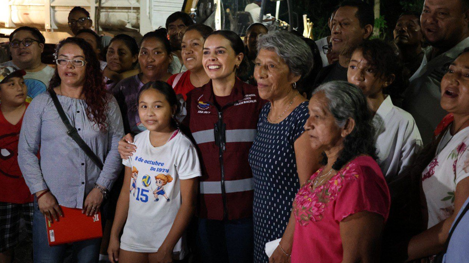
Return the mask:
[[[123,160],[132,178],[121,248],[143,253],[157,252],[170,232],[181,207],[180,180],[202,175],[195,147],[182,132],[160,147],[151,145],[149,134],[147,130],[136,135],[136,152]],[[184,236],[173,251],[179,259],[185,257]]]

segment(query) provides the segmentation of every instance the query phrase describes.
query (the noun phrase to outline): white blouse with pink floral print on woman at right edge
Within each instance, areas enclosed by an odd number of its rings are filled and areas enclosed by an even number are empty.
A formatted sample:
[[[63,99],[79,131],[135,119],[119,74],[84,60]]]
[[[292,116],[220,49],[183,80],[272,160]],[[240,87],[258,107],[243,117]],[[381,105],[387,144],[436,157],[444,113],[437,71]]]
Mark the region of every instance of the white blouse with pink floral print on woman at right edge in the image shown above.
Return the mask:
[[[438,148],[442,150],[422,173],[422,187],[428,208],[428,228],[447,219],[454,212],[456,185],[469,176],[468,146],[469,127],[459,131],[449,140],[441,140]]]

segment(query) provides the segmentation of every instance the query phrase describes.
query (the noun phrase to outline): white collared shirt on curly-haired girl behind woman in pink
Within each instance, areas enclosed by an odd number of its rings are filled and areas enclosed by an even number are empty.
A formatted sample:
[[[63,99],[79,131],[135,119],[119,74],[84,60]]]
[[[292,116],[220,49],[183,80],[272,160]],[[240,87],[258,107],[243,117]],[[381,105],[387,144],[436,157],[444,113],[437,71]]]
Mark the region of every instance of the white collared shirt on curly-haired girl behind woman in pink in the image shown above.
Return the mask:
[[[378,163],[387,182],[396,179],[422,150],[423,143],[414,118],[394,106],[386,96],[373,117]]]

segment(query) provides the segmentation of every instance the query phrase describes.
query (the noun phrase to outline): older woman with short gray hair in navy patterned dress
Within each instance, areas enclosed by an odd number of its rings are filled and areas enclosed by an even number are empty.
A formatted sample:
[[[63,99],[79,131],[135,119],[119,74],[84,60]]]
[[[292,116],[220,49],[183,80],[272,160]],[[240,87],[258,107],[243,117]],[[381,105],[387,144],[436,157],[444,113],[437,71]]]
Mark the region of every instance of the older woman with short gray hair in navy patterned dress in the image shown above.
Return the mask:
[[[264,105],[257,135],[249,152],[254,179],[254,262],[289,262],[294,221],[291,206],[295,194],[320,167],[320,151],[309,147],[304,133],[308,101],[296,83],[312,67],[313,55],[306,43],[291,33],[274,31],[257,39],[254,77]],[[282,238],[268,258],[265,244]]]

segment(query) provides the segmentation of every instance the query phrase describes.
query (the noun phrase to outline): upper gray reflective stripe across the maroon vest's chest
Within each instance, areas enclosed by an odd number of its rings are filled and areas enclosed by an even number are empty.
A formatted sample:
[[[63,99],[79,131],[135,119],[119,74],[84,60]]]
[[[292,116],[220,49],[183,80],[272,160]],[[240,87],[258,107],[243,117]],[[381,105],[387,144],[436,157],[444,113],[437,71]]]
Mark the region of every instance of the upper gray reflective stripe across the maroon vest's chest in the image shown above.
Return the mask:
[[[256,134],[256,129],[228,130],[226,131],[226,142],[254,142]],[[215,141],[213,129],[193,132],[192,137],[197,144]]]

